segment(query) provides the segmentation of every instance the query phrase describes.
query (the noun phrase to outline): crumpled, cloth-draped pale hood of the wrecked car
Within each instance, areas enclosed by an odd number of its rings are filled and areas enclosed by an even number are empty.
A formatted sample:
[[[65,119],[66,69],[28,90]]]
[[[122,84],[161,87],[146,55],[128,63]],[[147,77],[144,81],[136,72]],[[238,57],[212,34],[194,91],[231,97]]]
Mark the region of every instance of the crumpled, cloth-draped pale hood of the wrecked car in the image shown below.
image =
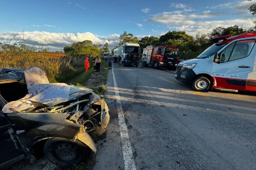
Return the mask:
[[[70,86],[65,83],[49,83],[45,72],[40,67],[31,67],[24,71],[28,94],[23,98],[7,103],[2,111],[10,113],[30,110],[34,107],[31,101],[54,106],[92,93],[91,89]]]

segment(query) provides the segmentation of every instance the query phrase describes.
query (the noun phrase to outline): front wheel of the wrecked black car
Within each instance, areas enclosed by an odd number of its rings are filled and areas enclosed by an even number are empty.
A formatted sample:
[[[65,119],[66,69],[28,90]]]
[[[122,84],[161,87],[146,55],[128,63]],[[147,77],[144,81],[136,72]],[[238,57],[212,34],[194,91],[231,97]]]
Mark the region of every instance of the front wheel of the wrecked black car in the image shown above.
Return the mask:
[[[44,145],[44,154],[49,161],[60,167],[72,167],[86,161],[91,149],[79,141],[62,138],[49,139]]]

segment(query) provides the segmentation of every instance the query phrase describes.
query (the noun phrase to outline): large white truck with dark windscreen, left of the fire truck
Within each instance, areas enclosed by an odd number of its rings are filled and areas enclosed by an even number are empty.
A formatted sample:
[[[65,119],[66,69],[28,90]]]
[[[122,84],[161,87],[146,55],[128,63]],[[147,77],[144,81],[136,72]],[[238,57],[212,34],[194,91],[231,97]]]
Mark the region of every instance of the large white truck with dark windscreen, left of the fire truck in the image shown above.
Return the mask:
[[[114,48],[114,56],[120,56],[124,59],[124,66],[133,66],[139,61],[140,47],[138,43],[123,42],[122,45]]]

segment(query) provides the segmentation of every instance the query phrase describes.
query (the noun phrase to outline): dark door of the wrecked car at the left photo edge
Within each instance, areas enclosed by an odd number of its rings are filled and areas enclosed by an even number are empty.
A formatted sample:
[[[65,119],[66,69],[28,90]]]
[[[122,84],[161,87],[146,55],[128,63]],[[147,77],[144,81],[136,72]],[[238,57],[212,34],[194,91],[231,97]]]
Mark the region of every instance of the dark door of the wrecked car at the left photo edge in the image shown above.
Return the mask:
[[[5,103],[2,99],[0,95],[0,110]],[[0,169],[25,157],[23,148],[2,111],[0,111],[0,148]]]

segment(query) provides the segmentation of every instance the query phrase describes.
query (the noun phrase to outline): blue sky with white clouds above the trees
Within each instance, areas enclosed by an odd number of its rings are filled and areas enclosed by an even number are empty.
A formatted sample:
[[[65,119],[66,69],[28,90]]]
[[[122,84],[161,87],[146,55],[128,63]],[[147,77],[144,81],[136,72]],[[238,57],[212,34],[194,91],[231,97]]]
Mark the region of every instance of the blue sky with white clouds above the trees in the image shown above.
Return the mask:
[[[52,51],[84,40],[118,43],[123,31],[141,39],[167,31],[188,35],[222,26],[254,26],[247,10],[256,0],[0,0],[0,39],[26,40]]]

